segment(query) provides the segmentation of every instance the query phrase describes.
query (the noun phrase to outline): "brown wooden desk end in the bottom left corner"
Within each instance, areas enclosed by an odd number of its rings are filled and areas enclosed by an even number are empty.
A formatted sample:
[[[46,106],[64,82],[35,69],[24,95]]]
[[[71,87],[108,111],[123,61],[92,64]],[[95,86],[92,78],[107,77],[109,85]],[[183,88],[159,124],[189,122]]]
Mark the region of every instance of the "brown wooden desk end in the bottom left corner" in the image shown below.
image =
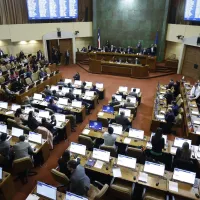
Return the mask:
[[[3,180],[0,182],[0,199],[12,200],[15,195],[15,186],[11,174],[3,171]]]

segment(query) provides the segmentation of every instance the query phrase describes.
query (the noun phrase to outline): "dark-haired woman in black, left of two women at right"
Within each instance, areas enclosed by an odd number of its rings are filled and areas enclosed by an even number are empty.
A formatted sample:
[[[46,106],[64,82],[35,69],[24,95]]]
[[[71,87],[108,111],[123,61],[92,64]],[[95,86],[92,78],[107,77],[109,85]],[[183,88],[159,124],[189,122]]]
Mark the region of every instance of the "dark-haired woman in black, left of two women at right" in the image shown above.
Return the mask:
[[[161,156],[162,149],[165,147],[165,140],[162,137],[162,133],[162,128],[157,128],[155,135],[151,138],[152,149],[150,152],[155,156]]]

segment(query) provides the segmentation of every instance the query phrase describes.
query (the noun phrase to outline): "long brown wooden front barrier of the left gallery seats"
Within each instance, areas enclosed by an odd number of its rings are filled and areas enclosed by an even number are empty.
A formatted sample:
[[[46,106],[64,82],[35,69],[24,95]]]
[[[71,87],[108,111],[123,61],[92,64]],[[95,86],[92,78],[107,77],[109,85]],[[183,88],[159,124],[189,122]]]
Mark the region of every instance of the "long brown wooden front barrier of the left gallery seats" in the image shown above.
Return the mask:
[[[34,93],[42,92],[45,89],[46,85],[55,85],[58,81],[60,81],[61,77],[62,77],[61,73],[55,74],[52,77],[48,77],[47,80],[42,81],[39,85],[34,86],[30,90],[27,90],[22,94],[16,94],[16,102],[18,104],[21,104],[25,96],[33,96]]]

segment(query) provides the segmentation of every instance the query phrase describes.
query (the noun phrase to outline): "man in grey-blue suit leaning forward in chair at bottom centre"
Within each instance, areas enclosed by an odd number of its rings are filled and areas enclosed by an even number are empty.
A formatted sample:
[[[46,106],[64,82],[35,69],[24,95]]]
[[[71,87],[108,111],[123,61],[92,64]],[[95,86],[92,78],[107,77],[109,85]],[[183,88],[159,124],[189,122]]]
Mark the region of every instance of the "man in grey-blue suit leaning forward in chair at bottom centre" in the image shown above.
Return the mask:
[[[67,168],[71,173],[69,191],[86,197],[90,189],[90,179],[85,174],[85,168],[78,165],[75,160],[70,160],[67,163]]]

